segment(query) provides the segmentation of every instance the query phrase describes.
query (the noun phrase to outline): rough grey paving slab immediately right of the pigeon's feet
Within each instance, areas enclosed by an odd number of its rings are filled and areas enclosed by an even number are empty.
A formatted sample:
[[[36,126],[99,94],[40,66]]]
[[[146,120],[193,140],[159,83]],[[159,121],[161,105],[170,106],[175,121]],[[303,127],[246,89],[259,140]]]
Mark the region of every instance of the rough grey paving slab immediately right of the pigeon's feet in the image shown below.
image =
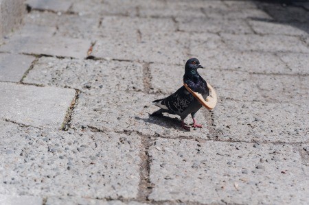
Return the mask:
[[[224,100],[214,109],[214,129],[220,140],[248,142],[308,142],[308,105]]]

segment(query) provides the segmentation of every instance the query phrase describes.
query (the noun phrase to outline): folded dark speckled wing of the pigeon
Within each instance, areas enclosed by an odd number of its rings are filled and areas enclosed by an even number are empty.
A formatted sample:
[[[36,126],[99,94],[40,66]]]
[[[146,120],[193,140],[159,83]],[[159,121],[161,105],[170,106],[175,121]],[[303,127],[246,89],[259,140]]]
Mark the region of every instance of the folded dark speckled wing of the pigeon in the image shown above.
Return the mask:
[[[182,86],[175,93],[163,99],[162,103],[168,110],[181,114],[192,104],[192,101],[194,101],[193,95]]]

